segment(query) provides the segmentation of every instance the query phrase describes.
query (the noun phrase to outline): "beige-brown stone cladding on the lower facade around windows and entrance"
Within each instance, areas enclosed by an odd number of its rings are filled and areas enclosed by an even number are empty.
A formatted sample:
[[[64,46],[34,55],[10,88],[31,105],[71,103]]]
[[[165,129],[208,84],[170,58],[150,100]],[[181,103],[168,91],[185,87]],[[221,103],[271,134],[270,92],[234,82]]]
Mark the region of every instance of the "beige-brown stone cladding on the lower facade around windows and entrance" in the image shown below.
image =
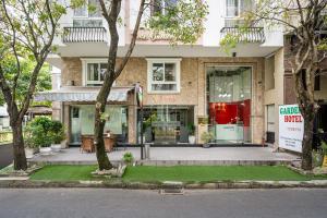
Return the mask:
[[[82,85],[82,62],[78,58],[64,58],[62,84],[69,80],[75,85]],[[120,62],[120,60],[118,61]],[[194,120],[206,116],[206,66],[207,65],[250,65],[252,76],[252,125],[253,143],[259,144],[264,133],[264,58],[182,58],[181,60],[181,92],[179,94],[147,93],[147,61],[145,58],[131,58],[117,86],[131,86],[140,82],[144,86],[144,105],[189,105],[194,107]],[[198,126],[197,138],[206,126]],[[130,133],[134,135],[135,133]]]

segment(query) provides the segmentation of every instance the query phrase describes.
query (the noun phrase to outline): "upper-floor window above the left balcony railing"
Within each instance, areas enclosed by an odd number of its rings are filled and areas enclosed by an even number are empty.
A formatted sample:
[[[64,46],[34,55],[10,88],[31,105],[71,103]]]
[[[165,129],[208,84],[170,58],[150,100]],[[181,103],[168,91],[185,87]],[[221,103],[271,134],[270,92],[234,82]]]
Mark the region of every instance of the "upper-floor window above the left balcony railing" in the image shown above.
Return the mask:
[[[88,7],[95,7],[95,11],[89,11]],[[101,7],[98,0],[87,0],[86,4],[74,10],[73,26],[76,27],[101,27]]]

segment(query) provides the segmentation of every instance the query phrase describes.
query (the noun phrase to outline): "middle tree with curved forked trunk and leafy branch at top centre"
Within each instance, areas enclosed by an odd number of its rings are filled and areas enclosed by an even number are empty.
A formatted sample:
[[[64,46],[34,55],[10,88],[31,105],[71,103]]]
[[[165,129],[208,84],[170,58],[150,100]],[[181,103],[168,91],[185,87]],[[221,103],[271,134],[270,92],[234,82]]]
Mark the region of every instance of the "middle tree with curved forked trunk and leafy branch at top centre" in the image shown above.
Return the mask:
[[[180,0],[180,1],[158,1],[158,0],[140,0],[138,13],[129,49],[122,58],[121,63],[117,63],[117,50],[119,43],[119,35],[117,26],[119,25],[119,13],[121,10],[122,0],[111,0],[110,2],[99,0],[100,9],[105,20],[109,26],[110,47],[108,56],[108,70],[105,72],[104,84],[96,99],[95,109],[95,146],[96,156],[99,169],[111,169],[112,165],[105,153],[105,143],[102,138],[106,119],[104,118],[107,98],[110,94],[114,80],[121,74],[126,65],[133,49],[136,44],[136,37],[144,11],[155,7],[160,11],[165,8],[165,13],[157,12],[148,19],[147,26],[154,33],[165,33],[171,36],[170,43],[175,45],[178,43],[193,44],[202,35],[203,20],[207,14],[207,5],[201,0]],[[177,2],[177,3],[175,3]],[[164,3],[164,4],[162,4]]]

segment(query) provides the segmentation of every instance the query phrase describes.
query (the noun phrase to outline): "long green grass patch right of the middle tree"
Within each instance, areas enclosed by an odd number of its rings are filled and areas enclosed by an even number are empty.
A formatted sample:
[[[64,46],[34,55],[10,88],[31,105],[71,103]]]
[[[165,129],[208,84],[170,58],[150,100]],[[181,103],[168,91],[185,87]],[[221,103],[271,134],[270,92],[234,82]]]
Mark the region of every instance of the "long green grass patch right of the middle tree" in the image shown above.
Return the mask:
[[[306,181],[327,179],[294,172],[283,166],[173,166],[128,167],[123,180],[126,182],[210,182],[210,181]]]

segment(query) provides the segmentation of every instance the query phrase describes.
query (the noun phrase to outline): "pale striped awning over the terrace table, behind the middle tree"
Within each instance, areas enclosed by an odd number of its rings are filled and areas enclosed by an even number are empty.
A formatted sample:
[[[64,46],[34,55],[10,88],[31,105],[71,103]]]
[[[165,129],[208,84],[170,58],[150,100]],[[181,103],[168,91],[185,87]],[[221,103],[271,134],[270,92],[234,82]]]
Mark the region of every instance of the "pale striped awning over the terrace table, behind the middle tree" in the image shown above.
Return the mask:
[[[95,101],[99,87],[70,86],[34,95],[35,101]],[[112,87],[108,101],[126,101],[134,87]]]

